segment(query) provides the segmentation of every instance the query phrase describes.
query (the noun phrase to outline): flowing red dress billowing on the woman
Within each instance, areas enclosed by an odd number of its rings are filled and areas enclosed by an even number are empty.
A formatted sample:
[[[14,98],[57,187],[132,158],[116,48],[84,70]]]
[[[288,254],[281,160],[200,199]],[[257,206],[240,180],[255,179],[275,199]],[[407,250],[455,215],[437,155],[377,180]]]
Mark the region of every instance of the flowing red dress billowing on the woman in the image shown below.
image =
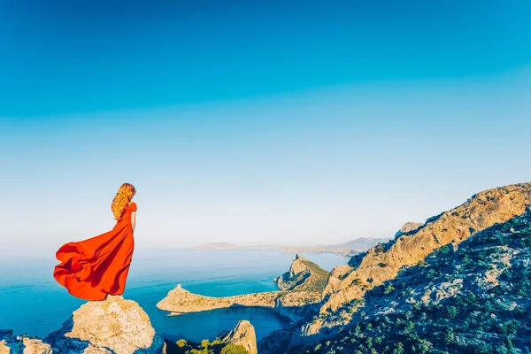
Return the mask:
[[[89,301],[122,295],[135,248],[131,227],[135,211],[136,204],[131,203],[112,231],[61,246],[56,253],[61,264],[53,272],[56,281],[73,296]]]

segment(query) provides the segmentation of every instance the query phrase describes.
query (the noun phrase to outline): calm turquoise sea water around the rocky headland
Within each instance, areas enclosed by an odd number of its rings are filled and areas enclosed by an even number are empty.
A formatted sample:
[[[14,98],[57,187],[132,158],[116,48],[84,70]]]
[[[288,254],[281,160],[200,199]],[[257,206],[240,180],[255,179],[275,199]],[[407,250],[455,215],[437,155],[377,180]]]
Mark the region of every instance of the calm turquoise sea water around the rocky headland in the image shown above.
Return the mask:
[[[306,254],[324,269],[344,265],[348,258]],[[166,316],[155,307],[167,292],[181,283],[204,296],[232,296],[275,290],[273,278],[287,272],[295,255],[276,251],[135,250],[125,298],[135,300],[148,313],[159,335],[192,341],[213,339],[249,319],[258,339],[288,323],[267,309],[222,309]],[[53,279],[55,258],[0,258],[0,329],[16,334],[45,336],[61,327],[85,302],[70,296]]]

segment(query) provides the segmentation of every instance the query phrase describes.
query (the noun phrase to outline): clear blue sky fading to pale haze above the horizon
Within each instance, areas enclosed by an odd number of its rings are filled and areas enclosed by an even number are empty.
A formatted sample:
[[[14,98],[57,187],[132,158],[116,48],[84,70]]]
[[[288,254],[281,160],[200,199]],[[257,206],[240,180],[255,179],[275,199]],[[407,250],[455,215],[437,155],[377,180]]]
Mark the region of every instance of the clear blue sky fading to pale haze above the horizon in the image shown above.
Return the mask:
[[[0,250],[111,229],[124,181],[145,248],[392,237],[531,181],[527,0],[80,3],[0,3]]]

